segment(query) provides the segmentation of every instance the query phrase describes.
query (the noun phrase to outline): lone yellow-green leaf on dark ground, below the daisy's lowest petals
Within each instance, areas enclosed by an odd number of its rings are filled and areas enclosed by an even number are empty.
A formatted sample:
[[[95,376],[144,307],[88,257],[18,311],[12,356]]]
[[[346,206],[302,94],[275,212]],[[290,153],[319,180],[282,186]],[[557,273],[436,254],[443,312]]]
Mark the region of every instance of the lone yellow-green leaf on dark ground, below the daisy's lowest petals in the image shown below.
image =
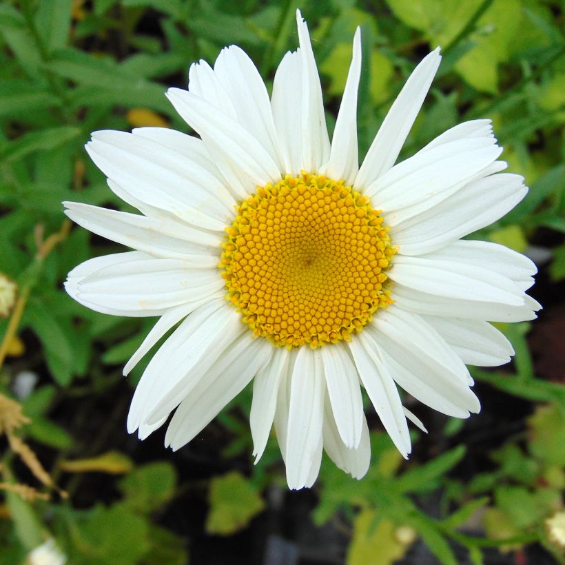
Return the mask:
[[[237,471],[212,478],[208,502],[206,531],[218,535],[230,535],[245,528],[265,508],[254,486]]]

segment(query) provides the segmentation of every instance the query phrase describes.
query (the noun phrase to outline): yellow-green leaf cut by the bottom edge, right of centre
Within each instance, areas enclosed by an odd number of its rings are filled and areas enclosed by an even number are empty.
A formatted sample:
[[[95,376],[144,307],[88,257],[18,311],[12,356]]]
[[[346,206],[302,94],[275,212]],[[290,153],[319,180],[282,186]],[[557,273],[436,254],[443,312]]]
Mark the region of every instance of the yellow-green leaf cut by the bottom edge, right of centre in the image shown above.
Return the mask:
[[[353,539],[347,550],[347,565],[367,565],[375,562],[390,565],[401,559],[407,551],[396,535],[396,526],[389,520],[376,523],[376,512],[363,510],[353,522]]]

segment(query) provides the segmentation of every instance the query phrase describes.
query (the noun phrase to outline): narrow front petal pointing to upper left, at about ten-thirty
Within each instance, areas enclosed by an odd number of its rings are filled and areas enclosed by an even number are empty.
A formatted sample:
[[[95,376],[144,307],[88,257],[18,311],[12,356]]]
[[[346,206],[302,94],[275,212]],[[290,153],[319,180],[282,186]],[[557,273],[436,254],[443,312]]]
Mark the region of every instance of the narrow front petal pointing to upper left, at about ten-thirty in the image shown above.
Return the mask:
[[[183,119],[200,134],[238,198],[246,198],[257,186],[280,180],[278,165],[240,123],[192,92],[170,88],[167,97]]]

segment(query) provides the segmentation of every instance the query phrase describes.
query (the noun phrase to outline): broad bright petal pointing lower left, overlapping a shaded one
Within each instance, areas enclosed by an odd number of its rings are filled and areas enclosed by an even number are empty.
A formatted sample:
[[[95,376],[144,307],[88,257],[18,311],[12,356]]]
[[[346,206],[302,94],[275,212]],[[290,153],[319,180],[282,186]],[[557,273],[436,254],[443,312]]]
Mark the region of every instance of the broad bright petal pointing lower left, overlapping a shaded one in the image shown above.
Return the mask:
[[[128,431],[153,424],[176,408],[243,329],[223,298],[189,314],[143,372],[127,417]]]

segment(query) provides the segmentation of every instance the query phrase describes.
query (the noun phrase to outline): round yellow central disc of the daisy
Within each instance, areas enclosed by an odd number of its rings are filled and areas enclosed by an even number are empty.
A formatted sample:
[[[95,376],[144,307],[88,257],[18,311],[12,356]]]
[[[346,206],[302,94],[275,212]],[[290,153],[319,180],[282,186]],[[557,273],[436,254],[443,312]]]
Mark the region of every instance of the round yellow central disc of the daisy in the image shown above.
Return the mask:
[[[391,303],[388,230],[369,198],[343,181],[302,172],[259,187],[226,232],[227,298],[275,345],[349,340]]]

